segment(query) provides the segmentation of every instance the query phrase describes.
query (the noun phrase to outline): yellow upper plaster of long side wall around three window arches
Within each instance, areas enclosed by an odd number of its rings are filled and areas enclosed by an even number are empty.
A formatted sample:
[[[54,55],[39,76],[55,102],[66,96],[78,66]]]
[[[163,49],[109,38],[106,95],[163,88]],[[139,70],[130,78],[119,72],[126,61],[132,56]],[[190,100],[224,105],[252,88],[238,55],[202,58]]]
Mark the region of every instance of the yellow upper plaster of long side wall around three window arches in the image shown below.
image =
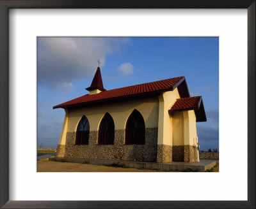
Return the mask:
[[[157,97],[110,103],[99,106],[88,106],[72,109],[68,113],[67,132],[76,131],[79,120],[85,115],[90,124],[90,131],[99,129],[100,120],[108,112],[115,122],[115,129],[125,129],[126,120],[132,111],[138,110],[145,121],[145,127],[157,127],[158,99]]]

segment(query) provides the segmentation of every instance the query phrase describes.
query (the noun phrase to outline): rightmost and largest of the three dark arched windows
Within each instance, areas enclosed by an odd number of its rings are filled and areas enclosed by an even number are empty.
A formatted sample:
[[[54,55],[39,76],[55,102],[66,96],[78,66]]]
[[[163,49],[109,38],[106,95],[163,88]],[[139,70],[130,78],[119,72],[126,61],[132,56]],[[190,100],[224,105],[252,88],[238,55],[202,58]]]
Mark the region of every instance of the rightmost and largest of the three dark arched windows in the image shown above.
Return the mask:
[[[129,116],[125,127],[125,145],[145,144],[145,122],[138,110]]]

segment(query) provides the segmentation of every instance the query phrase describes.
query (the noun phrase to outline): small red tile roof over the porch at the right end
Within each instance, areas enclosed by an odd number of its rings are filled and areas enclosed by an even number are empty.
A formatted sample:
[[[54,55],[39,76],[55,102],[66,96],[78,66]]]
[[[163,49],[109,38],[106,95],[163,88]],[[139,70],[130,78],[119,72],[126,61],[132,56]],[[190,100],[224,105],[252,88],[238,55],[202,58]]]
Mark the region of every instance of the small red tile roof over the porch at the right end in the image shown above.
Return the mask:
[[[186,110],[195,110],[196,122],[206,121],[202,96],[185,97],[177,99],[172,108],[169,110],[169,113]]]

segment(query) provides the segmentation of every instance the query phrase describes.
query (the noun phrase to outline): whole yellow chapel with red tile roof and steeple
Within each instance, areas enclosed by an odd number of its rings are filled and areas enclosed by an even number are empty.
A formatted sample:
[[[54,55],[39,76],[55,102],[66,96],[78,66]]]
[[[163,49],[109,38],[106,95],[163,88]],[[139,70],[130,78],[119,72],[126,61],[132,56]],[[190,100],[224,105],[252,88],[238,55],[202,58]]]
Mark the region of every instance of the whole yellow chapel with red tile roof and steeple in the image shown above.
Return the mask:
[[[196,122],[206,121],[204,103],[189,95],[184,76],[106,90],[98,67],[86,90],[53,107],[65,110],[55,157],[199,161]]]

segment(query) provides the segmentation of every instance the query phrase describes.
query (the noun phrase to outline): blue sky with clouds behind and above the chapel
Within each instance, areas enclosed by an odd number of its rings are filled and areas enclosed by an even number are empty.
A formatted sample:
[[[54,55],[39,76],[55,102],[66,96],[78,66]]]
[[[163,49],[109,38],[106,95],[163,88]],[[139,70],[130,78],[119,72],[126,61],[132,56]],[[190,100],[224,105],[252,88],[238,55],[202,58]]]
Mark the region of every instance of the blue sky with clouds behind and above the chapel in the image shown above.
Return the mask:
[[[208,38],[38,38],[38,146],[56,148],[65,111],[84,94],[100,59],[104,88],[185,76],[202,95],[207,122],[196,123],[200,149],[219,148],[219,40]]]

